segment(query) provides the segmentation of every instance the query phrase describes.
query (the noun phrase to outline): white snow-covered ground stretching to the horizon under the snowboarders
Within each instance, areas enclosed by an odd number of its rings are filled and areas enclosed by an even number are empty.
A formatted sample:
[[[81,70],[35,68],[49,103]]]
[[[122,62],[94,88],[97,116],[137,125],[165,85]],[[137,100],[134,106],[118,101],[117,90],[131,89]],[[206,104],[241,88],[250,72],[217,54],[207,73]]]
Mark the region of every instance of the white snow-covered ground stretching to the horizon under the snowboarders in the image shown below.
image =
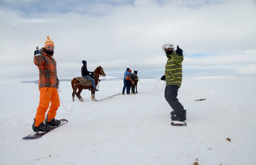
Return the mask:
[[[38,85],[2,83],[0,164],[255,165],[255,84],[256,77],[184,78],[178,99],[188,125],[171,126],[158,79],[141,79],[136,95],[120,95],[123,80],[102,81],[99,101],[83,90],[84,103],[73,103],[70,82],[60,82],[67,111],[61,103],[56,118],[68,123],[40,139],[22,139],[33,132]]]

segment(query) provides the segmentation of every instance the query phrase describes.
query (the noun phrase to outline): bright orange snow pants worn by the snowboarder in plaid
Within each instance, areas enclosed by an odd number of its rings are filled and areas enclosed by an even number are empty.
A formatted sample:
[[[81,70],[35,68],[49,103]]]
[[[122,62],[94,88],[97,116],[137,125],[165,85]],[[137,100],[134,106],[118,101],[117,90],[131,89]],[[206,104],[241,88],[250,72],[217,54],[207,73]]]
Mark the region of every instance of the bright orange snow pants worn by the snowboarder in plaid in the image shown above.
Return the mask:
[[[60,106],[60,99],[59,99],[57,88],[42,87],[39,90],[40,90],[40,101],[39,101],[39,106],[37,108],[36,117],[35,117],[35,127],[38,127],[40,123],[44,122],[45,113],[49,108],[50,102],[51,102],[51,106],[47,113],[48,122],[51,119],[55,118],[56,111]]]

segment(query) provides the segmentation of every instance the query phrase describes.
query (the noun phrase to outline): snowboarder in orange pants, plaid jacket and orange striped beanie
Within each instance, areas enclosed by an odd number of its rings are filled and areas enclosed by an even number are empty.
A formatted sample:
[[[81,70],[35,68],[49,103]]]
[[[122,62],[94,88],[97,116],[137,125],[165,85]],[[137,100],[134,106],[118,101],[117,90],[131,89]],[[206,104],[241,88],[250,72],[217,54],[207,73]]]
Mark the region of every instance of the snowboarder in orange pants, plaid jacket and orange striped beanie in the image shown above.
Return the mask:
[[[40,50],[34,51],[34,64],[39,69],[39,90],[40,101],[37,108],[36,117],[32,125],[32,129],[36,132],[47,131],[50,127],[60,125],[60,121],[55,119],[56,111],[60,106],[58,96],[59,80],[57,77],[57,64],[55,59],[52,58],[54,53],[54,42],[47,36],[45,45]],[[45,113],[49,108],[45,119]],[[45,120],[45,123],[44,123]]]

